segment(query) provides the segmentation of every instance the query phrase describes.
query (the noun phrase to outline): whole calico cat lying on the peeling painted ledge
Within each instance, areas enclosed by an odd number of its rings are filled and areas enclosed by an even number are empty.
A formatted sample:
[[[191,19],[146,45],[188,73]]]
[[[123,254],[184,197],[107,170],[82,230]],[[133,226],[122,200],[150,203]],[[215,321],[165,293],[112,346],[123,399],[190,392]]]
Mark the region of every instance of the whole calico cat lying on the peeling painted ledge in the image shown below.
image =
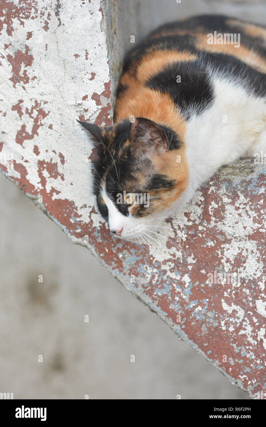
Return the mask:
[[[79,123],[98,141],[99,212],[137,242],[219,167],[266,151],[266,28],[216,15],[161,26],[126,55],[114,125]]]

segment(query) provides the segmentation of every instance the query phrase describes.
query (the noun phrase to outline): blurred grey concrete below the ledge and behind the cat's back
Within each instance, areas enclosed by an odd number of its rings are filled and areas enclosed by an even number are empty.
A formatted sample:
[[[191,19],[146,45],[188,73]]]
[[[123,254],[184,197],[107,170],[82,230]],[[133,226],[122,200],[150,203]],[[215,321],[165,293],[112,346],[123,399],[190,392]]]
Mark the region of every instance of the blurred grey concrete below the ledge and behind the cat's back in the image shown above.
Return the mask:
[[[120,54],[129,43],[121,35],[142,36],[162,16],[214,12],[265,23],[263,0],[112,3]],[[248,399],[2,174],[0,196],[0,392],[14,399]]]

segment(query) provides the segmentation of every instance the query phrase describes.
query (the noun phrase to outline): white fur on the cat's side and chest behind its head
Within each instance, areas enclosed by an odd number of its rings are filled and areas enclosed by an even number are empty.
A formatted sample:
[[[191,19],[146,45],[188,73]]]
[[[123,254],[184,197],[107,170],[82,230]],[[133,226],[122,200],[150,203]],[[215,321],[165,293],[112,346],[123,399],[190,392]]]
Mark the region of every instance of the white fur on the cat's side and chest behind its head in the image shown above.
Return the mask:
[[[225,77],[213,84],[213,104],[190,119],[185,135],[192,193],[222,165],[266,150],[266,99]]]

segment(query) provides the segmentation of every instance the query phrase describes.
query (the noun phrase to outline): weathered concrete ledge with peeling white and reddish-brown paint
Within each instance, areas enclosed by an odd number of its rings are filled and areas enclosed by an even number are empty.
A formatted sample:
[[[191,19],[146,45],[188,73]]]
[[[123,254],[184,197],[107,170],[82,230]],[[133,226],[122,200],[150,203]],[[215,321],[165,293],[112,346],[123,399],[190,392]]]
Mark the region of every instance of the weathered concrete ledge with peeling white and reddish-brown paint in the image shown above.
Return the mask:
[[[75,119],[111,123],[118,58],[128,43],[121,34],[115,41],[118,27],[111,24],[121,20],[121,4],[4,4],[1,171],[180,339],[260,398],[266,391],[266,165],[245,160],[222,168],[185,212],[165,221],[149,251],[117,241],[94,208],[92,149]],[[153,16],[161,7],[158,2]],[[187,9],[180,9],[177,18],[184,15]],[[147,30],[141,28],[139,37]],[[124,48],[115,52],[118,43]],[[227,274],[237,274],[238,282]]]

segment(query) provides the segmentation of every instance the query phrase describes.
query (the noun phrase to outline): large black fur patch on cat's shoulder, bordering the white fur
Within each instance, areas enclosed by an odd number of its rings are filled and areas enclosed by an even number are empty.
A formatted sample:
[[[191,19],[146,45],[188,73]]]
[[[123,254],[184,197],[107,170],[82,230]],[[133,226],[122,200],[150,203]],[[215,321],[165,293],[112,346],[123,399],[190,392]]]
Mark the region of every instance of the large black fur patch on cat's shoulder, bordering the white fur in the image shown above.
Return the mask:
[[[256,96],[266,95],[265,74],[233,56],[219,53],[205,53],[196,61],[180,62],[165,67],[161,73],[149,79],[146,86],[169,94],[180,114],[188,120],[191,114],[200,114],[213,102],[208,67],[241,82],[248,92]],[[178,75],[181,76],[180,83],[176,82]]]

